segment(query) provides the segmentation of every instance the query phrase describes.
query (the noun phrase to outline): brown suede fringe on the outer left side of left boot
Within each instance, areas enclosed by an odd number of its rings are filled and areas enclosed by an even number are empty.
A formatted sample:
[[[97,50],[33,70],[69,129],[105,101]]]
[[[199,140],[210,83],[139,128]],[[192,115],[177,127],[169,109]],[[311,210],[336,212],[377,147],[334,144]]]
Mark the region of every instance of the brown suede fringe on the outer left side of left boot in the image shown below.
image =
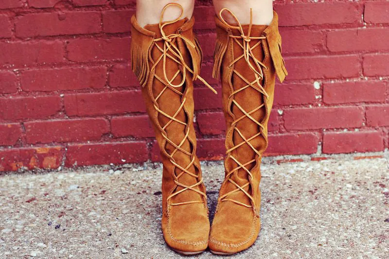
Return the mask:
[[[131,43],[131,69],[137,76],[141,86],[145,86],[149,76],[148,49],[142,48],[137,42]]]

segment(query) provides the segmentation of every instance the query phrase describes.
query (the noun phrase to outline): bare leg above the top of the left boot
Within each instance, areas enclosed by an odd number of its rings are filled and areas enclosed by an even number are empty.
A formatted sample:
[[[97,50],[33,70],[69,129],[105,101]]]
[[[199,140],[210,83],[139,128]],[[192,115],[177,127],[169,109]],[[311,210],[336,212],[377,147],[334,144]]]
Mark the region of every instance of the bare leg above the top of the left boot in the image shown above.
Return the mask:
[[[178,3],[184,8],[182,17],[191,18],[195,0],[137,0],[137,21],[141,27],[147,24],[159,23],[163,7],[168,3]],[[172,6],[165,11],[163,21],[176,19],[180,14],[178,7]]]

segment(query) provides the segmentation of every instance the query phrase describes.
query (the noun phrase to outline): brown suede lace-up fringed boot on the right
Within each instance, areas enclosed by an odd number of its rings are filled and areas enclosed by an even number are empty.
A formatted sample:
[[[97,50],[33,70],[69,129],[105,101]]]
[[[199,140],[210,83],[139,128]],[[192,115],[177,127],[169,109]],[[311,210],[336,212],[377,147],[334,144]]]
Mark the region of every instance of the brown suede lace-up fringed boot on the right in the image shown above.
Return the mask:
[[[267,25],[228,24],[215,18],[217,41],[213,77],[221,75],[227,123],[225,180],[222,183],[209,247],[228,255],[250,247],[260,223],[260,163],[267,147],[267,121],[275,75],[287,75],[281,56],[278,17]],[[252,12],[250,10],[250,17]]]

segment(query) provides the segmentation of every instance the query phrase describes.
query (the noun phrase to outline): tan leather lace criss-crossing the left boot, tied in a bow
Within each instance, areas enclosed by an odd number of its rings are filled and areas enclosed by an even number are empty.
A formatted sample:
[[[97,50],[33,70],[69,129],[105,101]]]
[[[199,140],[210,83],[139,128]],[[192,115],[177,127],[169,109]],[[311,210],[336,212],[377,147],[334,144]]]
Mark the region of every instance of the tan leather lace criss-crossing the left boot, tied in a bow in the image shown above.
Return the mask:
[[[172,20],[172,21],[165,21],[163,22],[163,14],[165,12],[165,10],[170,7],[170,6],[177,6],[178,8],[180,8],[181,10],[181,13],[179,15],[179,17],[177,17],[175,20]],[[185,84],[185,81],[186,81],[186,73],[187,71],[189,71],[190,73],[193,74],[193,80],[195,79],[199,79],[201,82],[203,82],[206,86],[208,86],[214,93],[217,93],[215,91],[215,89],[212,88],[212,86],[210,86],[203,78],[201,78],[193,69],[191,69],[184,61],[184,57],[181,53],[181,51],[178,49],[178,47],[176,46],[176,42],[177,42],[177,38],[181,38],[183,41],[185,41],[187,43],[187,45],[189,45],[190,47],[192,48],[195,48],[195,44],[193,44],[189,39],[187,39],[185,36],[181,35],[180,32],[178,31],[178,33],[175,33],[175,34],[170,34],[170,35],[166,35],[165,32],[163,31],[163,28],[168,25],[168,24],[172,24],[172,23],[175,23],[177,22],[178,20],[181,19],[182,17],[182,14],[183,14],[183,8],[181,5],[177,4],[177,3],[169,3],[167,4],[163,9],[162,9],[162,12],[161,12],[161,16],[160,16],[160,19],[159,19],[159,29],[160,29],[160,33],[161,33],[161,37],[160,38],[155,38],[154,39],[154,42],[159,42],[159,41],[163,41],[163,48],[160,47],[158,44],[155,44],[155,46],[158,48],[158,50],[161,52],[159,58],[156,59],[155,63],[153,64],[153,66],[151,67],[151,70],[152,69],[155,69],[156,66],[159,64],[159,62],[162,62],[163,63],[163,79],[160,78],[157,74],[154,73],[154,76],[162,83],[165,85],[165,87],[160,91],[160,93],[157,95],[157,97],[155,98],[155,101],[154,101],[154,107],[155,109],[160,113],[162,114],[163,116],[167,117],[170,119],[170,121],[168,121],[163,127],[162,127],[162,137],[167,141],[169,142],[172,146],[174,146],[174,150],[171,154],[167,154],[171,163],[177,167],[181,172],[176,174],[176,173],[173,173],[173,176],[174,176],[174,182],[177,186],[180,186],[182,187],[181,190],[178,190],[178,191],[175,191],[173,192],[172,194],[170,194],[168,197],[167,197],[167,201],[169,201],[171,198],[173,198],[174,196],[176,196],[177,194],[183,192],[183,191],[186,191],[186,190],[193,190],[197,193],[199,193],[200,195],[206,197],[206,194],[200,190],[197,190],[195,189],[196,186],[199,186],[202,184],[203,182],[203,179],[201,177],[201,174],[194,174],[194,173],[191,173],[189,172],[189,168],[191,166],[194,165],[195,163],[195,152],[192,151],[192,152],[188,152],[186,150],[184,150],[182,148],[182,145],[185,143],[185,141],[188,139],[188,136],[189,136],[189,131],[190,131],[190,123],[189,122],[186,122],[186,121],[180,121],[178,120],[176,117],[177,115],[183,110],[183,107],[185,105],[185,102],[187,100],[187,97],[184,95],[184,93],[180,92],[177,87],[180,87],[180,86],[183,86]],[[177,63],[178,67],[181,68],[181,69],[177,69],[177,72],[174,73],[174,75],[169,79],[168,76],[167,76],[167,73],[166,73],[166,60],[167,59],[170,59],[172,61],[174,61],[175,63]],[[181,74],[182,75],[182,80],[179,84],[175,85],[173,84],[173,81],[177,78],[177,76]],[[162,94],[167,91],[168,89],[172,90],[173,92],[177,93],[181,98],[181,104],[180,106],[178,107],[177,111],[174,113],[174,115],[169,115],[167,114],[166,112],[162,111],[161,109],[159,109],[159,105],[158,105],[158,100],[159,98],[162,96]],[[185,91],[183,91],[185,92]],[[185,111],[185,110],[184,110]],[[180,123],[182,125],[185,126],[185,136],[182,138],[182,140],[176,144],[174,143],[171,139],[169,139],[169,137],[167,136],[167,133],[165,131],[165,129],[173,122],[173,121],[176,121],[177,123]],[[181,166],[179,165],[175,159],[173,158],[173,155],[175,155],[177,152],[182,152],[188,156],[191,157],[191,162],[186,165],[186,166]],[[167,152],[166,152],[167,153]],[[196,183],[194,185],[191,185],[191,186],[188,186],[188,185],[185,185],[183,183],[180,183],[179,182],[179,178],[184,174],[184,173],[187,173],[193,177],[196,178]],[[203,203],[202,201],[186,201],[186,202],[180,202],[180,203],[172,203],[171,205],[172,206],[176,206],[176,205],[184,205],[184,204],[191,204],[191,203]]]

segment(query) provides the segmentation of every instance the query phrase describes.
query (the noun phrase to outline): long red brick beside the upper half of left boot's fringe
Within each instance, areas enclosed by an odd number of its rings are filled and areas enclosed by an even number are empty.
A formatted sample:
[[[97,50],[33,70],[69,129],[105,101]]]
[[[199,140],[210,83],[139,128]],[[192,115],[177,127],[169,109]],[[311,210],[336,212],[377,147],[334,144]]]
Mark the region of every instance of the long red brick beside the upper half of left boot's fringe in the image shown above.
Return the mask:
[[[67,45],[71,61],[130,60],[130,38],[74,39]]]

